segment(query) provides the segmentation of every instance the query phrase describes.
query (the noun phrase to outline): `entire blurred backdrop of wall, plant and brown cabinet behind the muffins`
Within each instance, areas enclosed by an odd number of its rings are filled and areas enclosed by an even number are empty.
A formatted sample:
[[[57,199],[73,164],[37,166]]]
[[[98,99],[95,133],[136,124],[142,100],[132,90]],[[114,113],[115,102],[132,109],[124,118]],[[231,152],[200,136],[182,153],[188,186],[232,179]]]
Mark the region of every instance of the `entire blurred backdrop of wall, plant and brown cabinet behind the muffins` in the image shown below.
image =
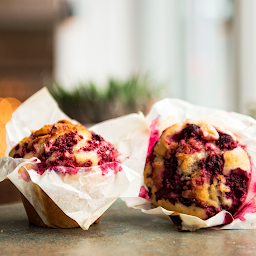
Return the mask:
[[[84,124],[156,100],[256,116],[254,0],[0,0],[0,156],[43,86]]]

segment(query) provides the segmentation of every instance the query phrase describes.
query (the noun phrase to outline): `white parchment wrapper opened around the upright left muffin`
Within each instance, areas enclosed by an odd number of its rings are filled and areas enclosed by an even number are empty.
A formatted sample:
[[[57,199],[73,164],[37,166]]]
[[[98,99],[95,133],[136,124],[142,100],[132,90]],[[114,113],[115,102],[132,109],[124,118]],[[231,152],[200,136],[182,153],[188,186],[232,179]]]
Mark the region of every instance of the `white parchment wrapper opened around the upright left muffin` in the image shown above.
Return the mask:
[[[138,173],[145,164],[149,129],[142,114],[112,119],[89,129],[111,142],[125,159],[120,165],[121,171],[116,169],[119,166],[110,165],[108,171],[104,171],[105,175],[99,166],[79,168],[75,175],[62,175],[50,170],[39,175],[34,170],[36,162],[40,161],[37,158],[24,160],[8,157],[10,149],[29,136],[31,130],[61,119],[70,120],[45,88],[13,113],[6,125],[8,147],[6,157],[0,159],[0,181],[8,177],[46,225],[49,224],[47,216],[35,196],[37,186],[81,228],[88,229],[120,195],[126,197],[138,194],[141,184]],[[65,167],[59,168],[65,171]]]

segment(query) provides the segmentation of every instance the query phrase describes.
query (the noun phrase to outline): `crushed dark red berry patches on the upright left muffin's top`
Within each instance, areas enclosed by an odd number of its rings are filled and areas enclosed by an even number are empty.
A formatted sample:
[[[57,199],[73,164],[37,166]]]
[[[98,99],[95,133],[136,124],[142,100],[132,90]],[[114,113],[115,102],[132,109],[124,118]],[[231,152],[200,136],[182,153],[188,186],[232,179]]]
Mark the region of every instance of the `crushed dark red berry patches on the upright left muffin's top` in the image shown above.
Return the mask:
[[[55,127],[53,126],[53,130]],[[32,134],[31,141],[35,139],[35,136]],[[32,152],[33,155],[38,157],[41,160],[41,163],[38,163],[38,173],[43,174],[46,169],[51,169],[56,172],[59,172],[59,166],[65,166],[66,172],[68,174],[77,173],[77,167],[92,167],[93,163],[91,160],[86,160],[83,163],[78,163],[73,156],[74,146],[78,144],[80,140],[83,139],[83,136],[78,134],[77,131],[65,133],[59,136],[54,143],[51,139],[43,143],[43,152],[38,153],[37,141],[28,148],[28,143],[24,143],[19,153],[15,154],[14,158],[22,158],[27,153]],[[100,135],[92,132],[92,137],[88,141],[88,146],[81,148],[80,152],[96,151],[98,156],[98,165],[103,165],[109,162],[119,162],[117,160],[119,152],[114,148],[114,146],[106,142]],[[19,146],[20,147],[20,146]],[[16,150],[19,149],[16,146]],[[51,159],[51,160],[50,160]],[[109,167],[102,167],[102,172],[106,173]],[[63,170],[62,170],[63,171]]]

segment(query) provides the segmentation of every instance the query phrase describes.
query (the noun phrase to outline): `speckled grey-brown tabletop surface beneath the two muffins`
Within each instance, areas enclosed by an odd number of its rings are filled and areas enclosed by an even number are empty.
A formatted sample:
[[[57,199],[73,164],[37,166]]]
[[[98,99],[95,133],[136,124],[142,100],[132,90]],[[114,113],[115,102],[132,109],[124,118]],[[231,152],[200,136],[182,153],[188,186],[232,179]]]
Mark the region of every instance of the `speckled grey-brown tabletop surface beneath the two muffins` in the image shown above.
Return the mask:
[[[23,205],[0,207],[0,255],[256,255],[256,230],[178,232],[118,200],[88,231],[28,224]]]

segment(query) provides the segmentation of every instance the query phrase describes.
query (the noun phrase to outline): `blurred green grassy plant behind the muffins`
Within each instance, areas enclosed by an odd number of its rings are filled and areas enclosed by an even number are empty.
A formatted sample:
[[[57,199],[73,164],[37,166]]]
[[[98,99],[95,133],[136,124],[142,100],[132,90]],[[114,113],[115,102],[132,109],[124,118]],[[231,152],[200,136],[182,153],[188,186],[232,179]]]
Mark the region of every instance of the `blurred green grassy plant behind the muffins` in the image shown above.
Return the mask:
[[[68,91],[58,83],[49,90],[60,108],[81,123],[98,123],[132,112],[147,113],[161,97],[163,87],[147,77],[133,76],[125,81],[110,79],[104,89],[93,83],[80,83]]]

